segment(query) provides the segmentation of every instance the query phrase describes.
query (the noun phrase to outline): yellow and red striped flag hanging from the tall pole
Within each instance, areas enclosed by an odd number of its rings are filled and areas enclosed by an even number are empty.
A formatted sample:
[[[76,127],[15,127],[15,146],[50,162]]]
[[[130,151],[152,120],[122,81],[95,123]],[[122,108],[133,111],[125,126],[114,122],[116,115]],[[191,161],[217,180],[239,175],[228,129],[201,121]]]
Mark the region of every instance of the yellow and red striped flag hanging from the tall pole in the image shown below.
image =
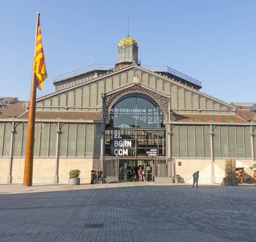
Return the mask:
[[[47,71],[45,67],[44,61],[44,50],[42,46],[41,39],[41,29],[40,29],[40,21],[38,24],[37,30],[37,39],[36,39],[36,49],[35,49],[35,63],[34,63],[34,72],[37,76],[36,87],[41,90],[43,87],[43,81],[47,78]]]

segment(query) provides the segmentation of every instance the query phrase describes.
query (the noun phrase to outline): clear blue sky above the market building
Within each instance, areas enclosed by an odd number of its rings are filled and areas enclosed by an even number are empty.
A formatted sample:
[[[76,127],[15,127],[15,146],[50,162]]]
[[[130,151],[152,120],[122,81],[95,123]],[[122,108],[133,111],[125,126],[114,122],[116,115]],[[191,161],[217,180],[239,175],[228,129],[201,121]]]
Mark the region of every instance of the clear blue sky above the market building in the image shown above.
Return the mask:
[[[137,40],[143,65],[167,65],[201,80],[208,95],[256,102],[255,0],[1,1],[0,96],[29,99],[36,12],[48,78],[94,63],[114,64],[119,40]]]

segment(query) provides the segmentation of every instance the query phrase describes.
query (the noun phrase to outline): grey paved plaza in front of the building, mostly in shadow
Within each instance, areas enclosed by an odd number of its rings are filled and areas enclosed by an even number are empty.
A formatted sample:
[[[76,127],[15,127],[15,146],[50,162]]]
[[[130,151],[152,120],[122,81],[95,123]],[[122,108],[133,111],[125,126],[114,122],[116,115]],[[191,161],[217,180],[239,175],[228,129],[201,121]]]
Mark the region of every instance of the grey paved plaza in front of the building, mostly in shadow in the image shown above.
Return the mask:
[[[0,242],[256,242],[256,186],[0,185]]]

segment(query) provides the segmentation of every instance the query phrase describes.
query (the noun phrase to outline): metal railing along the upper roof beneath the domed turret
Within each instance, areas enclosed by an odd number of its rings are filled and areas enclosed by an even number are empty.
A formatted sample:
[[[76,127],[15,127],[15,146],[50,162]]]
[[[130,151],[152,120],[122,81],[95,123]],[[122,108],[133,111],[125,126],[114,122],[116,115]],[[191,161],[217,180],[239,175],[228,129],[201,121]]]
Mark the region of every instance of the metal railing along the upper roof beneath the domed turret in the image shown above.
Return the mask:
[[[131,58],[132,59],[132,58]],[[140,60],[138,60],[140,61]],[[122,67],[126,67],[127,65],[125,66],[122,66]],[[166,72],[166,73],[170,73],[172,75],[174,75],[175,77],[177,78],[180,78],[180,79],[183,79],[183,80],[186,80],[190,83],[193,83],[193,84],[196,84],[198,86],[201,86],[202,85],[202,82],[201,81],[198,81],[197,79],[195,78],[192,78],[186,74],[183,74],[182,72],[178,72],[176,71],[175,69],[172,69],[170,68],[169,66],[143,66],[141,65],[141,67],[143,67],[144,69],[147,69],[151,72]],[[114,69],[118,68],[118,66],[116,65],[111,65],[111,64],[96,64],[94,63],[93,65],[90,65],[90,66],[85,66],[81,69],[78,69],[76,71],[72,71],[72,72],[69,72],[69,73],[65,73],[63,75],[58,75],[58,76],[54,76],[53,77],[53,83],[54,82],[57,82],[57,81],[63,81],[63,80],[67,80],[69,78],[74,78],[74,77],[78,77],[79,75],[82,75],[82,74],[86,74],[88,72],[91,72],[91,71],[99,71],[99,70],[102,70],[102,71],[112,71]]]

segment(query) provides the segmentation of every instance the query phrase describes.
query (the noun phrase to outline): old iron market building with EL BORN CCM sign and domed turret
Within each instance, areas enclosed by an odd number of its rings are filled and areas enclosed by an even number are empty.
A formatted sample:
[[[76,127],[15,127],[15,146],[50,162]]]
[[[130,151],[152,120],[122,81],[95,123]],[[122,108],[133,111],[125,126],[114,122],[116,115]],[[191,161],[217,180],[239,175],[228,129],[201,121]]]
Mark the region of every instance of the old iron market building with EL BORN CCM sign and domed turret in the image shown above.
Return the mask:
[[[142,65],[134,39],[119,41],[114,65],[94,63],[53,84],[55,92],[36,100],[33,183],[67,183],[71,169],[89,183],[92,167],[105,182],[125,182],[132,166],[144,168],[148,182],[179,175],[190,183],[200,170],[201,183],[221,183],[226,158],[253,176],[253,104],[228,104],[168,66]],[[2,99],[0,183],[22,183],[29,101]]]

